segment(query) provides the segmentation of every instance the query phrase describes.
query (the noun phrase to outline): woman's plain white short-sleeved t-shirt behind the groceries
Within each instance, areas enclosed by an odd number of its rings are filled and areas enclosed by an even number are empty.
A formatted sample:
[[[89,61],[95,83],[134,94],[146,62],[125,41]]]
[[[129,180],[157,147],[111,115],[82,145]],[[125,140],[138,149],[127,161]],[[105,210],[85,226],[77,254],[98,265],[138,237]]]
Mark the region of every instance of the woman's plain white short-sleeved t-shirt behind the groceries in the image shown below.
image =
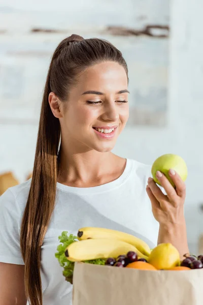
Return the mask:
[[[41,251],[44,305],[71,305],[72,285],[55,258],[63,230],[77,236],[81,227],[104,227],[134,234],[156,246],[159,224],[146,193],[151,166],[127,159],[123,174],[105,185],[74,188],[57,183],[56,205]],[[20,225],[30,180],[0,197],[0,262],[24,264],[20,252]]]

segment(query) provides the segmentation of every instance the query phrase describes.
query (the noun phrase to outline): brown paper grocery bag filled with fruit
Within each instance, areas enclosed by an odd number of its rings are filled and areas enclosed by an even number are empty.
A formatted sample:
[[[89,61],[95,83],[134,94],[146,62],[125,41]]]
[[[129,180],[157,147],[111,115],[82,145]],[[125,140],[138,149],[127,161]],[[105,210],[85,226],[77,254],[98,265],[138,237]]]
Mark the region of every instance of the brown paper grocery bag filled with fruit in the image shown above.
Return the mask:
[[[75,263],[73,305],[202,305],[203,269],[137,270]]]

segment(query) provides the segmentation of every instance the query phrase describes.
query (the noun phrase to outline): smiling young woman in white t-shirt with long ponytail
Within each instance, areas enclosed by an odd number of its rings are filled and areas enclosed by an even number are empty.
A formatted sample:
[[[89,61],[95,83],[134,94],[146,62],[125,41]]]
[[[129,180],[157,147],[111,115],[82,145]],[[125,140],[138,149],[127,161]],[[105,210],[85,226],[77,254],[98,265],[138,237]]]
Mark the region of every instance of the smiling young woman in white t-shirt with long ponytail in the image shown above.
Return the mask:
[[[151,166],[114,155],[128,109],[128,71],[121,52],[100,39],[72,35],[56,48],[46,80],[32,179],[0,199],[0,305],[69,305],[54,254],[63,230],[121,230],[188,252],[185,184],[167,195]],[[149,178],[149,179],[148,179]]]

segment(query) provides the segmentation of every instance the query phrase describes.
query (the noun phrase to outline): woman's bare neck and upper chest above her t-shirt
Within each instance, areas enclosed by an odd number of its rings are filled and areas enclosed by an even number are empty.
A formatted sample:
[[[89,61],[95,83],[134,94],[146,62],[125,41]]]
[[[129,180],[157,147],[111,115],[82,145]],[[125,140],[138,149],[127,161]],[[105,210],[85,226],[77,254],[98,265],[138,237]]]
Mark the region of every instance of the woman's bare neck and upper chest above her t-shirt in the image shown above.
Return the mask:
[[[111,152],[93,149],[72,152],[61,145],[58,182],[68,186],[92,187],[118,178],[126,160]]]

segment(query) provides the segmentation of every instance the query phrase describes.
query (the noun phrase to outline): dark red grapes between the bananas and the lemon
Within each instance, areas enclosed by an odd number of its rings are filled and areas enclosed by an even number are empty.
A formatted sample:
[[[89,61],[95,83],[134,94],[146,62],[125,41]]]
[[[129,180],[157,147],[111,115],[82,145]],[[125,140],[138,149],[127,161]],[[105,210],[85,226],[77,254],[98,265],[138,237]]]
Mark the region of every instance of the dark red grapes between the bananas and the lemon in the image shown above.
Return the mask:
[[[126,267],[128,264],[137,261],[146,262],[146,259],[144,258],[138,259],[138,255],[136,252],[129,251],[127,255],[119,255],[116,259],[112,257],[108,258],[105,264],[109,266]]]

